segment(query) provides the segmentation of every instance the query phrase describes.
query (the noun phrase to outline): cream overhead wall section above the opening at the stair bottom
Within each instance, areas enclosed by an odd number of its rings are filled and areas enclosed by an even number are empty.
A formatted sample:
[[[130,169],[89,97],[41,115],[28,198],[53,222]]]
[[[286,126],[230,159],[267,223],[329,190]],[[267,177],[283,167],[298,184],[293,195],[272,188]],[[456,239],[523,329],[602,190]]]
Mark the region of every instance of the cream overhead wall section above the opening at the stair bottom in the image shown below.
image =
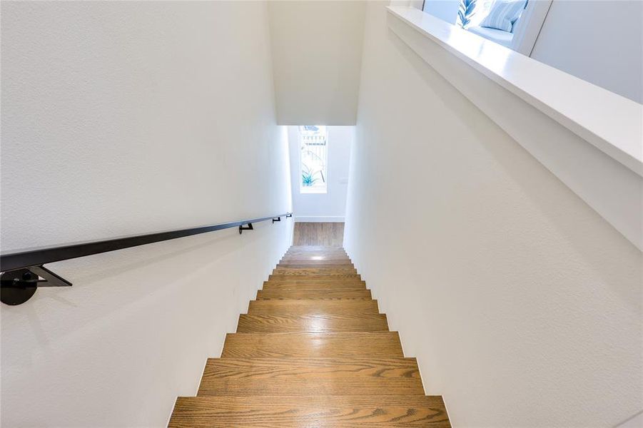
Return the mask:
[[[365,1],[271,1],[280,125],[355,125]]]

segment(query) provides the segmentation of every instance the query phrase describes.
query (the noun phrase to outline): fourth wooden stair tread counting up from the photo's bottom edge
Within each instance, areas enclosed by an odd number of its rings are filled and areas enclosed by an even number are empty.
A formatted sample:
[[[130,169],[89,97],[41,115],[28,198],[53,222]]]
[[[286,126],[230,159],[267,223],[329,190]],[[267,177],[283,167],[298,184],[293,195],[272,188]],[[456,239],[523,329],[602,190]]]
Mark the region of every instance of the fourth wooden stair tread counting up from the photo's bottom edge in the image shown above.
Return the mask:
[[[237,332],[388,331],[384,314],[239,315]]]

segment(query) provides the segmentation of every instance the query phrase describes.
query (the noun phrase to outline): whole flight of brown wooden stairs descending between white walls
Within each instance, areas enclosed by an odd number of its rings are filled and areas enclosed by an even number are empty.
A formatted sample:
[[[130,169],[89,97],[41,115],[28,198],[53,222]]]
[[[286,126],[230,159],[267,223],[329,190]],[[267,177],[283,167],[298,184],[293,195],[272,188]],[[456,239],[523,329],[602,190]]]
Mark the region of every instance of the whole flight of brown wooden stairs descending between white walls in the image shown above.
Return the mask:
[[[450,427],[343,248],[292,247],[169,427]]]

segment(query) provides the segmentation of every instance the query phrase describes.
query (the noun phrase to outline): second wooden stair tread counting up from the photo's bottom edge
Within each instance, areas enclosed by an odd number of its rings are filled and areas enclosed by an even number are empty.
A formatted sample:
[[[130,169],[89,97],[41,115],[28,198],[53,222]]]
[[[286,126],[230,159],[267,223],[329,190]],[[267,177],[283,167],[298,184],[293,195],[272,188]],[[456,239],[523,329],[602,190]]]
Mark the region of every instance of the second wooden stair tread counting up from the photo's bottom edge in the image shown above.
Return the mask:
[[[198,395],[424,395],[413,358],[209,359]]]

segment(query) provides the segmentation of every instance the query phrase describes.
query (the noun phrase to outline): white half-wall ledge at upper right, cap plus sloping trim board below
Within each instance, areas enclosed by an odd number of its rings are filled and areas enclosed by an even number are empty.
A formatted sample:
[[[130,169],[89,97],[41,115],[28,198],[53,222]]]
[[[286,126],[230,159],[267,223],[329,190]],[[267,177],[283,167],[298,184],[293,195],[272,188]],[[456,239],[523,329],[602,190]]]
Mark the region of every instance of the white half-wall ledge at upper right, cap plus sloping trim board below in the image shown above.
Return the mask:
[[[408,7],[389,28],[643,250],[643,105]]]

